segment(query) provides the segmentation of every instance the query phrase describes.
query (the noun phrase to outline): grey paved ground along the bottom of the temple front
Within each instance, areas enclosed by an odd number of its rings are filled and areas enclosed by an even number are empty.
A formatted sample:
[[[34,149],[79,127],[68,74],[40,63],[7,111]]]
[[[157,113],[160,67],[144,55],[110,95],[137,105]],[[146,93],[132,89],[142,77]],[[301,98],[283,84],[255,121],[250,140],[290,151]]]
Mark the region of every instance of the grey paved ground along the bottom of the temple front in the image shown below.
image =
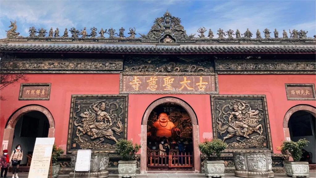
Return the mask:
[[[19,178],[27,178],[27,173],[21,173]],[[309,173],[310,178],[316,178],[316,173]],[[8,178],[12,177],[12,174],[8,174]],[[59,178],[69,178],[68,175],[60,175]],[[118,178],[119,175],[112,174],[109,178]],[[233,178],[234,174],[225,174],[225,178]],[[289,178],[285,174],[275,174],[275,178]],[[136,178],[206,178],[205,174],[137,174]]]

